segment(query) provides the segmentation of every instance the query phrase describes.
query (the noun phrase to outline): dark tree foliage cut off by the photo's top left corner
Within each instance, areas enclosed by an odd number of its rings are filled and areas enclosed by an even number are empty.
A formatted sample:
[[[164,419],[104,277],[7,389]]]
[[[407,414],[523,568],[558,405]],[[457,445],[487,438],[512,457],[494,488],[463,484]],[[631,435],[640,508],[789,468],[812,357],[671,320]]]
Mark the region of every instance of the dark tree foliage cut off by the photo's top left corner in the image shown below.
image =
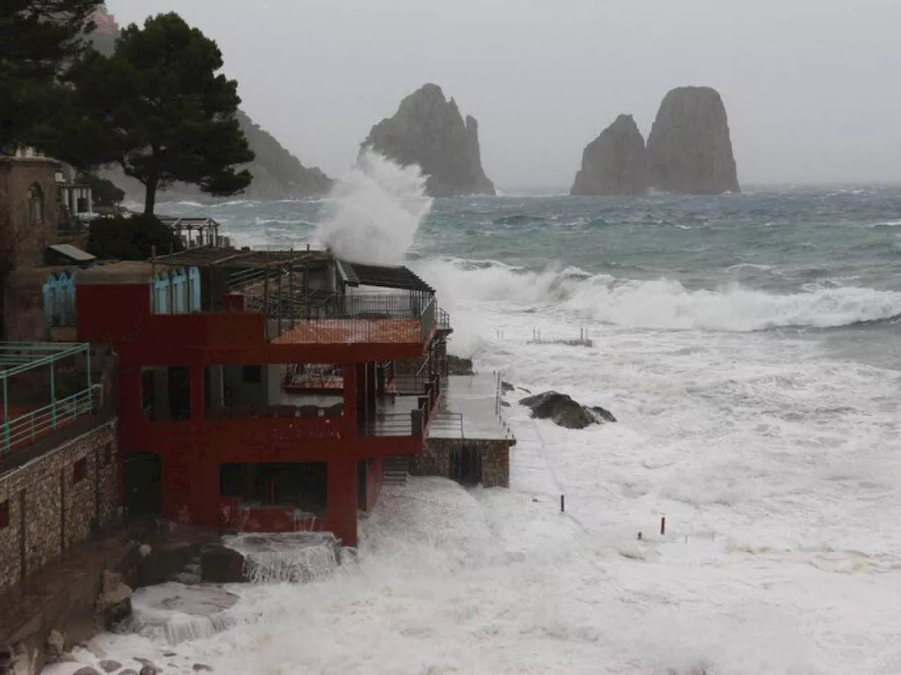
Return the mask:
[[[86,47],[101,0],[0,3],[0,154],[46,137],[62,93],[58,77]]]

